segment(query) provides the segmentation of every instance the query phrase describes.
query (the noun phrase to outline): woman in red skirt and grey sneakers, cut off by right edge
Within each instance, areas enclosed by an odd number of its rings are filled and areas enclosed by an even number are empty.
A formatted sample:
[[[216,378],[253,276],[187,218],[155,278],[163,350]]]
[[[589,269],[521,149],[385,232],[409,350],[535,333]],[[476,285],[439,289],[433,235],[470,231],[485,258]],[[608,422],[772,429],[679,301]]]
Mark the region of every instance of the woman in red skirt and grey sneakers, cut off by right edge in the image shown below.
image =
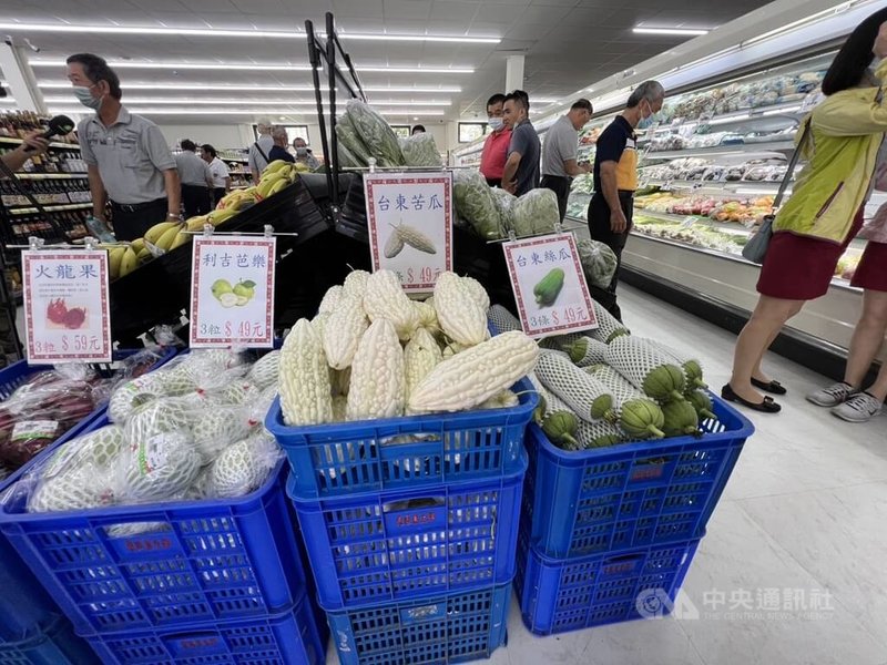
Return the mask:
[[[878,168],[877,188],[887,190],[887,164]],[[868,238],[863,258],[850,284],[865,289],[863,315],[850,340],[844,380],[808,395],[807,399],[848,422],[866,422],[881,412],[887,398],[887,362],[880,366],[875,382],[863,390],[868,368],[884,346],[887,334],[887,204],[859,234]]]

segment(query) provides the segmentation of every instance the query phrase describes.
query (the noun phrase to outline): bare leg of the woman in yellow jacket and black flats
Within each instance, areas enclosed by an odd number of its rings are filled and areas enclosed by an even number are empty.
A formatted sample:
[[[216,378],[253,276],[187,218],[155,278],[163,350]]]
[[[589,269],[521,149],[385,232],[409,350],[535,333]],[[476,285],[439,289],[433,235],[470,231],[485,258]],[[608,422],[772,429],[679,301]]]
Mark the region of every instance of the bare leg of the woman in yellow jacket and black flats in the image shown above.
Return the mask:
[[[758,298],[752,317],[736,339],[733,355],[733,376],[730,379],[730,387],[741,398],[751,402],[763,401],[764,397],[752,387],[752,372],[761,364],[767,346],[785,321],[799,311],[803,305],[801,300],[785,300],[769,296]]]

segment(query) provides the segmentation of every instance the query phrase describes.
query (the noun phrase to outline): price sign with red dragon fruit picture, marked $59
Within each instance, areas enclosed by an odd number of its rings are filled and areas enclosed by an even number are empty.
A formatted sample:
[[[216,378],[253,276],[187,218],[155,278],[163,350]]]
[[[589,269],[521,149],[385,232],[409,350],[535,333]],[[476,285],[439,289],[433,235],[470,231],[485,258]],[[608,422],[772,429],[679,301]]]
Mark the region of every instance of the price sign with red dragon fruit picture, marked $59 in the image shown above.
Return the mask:
[[[28,362],[110,362],[108,253],[22,252]]]

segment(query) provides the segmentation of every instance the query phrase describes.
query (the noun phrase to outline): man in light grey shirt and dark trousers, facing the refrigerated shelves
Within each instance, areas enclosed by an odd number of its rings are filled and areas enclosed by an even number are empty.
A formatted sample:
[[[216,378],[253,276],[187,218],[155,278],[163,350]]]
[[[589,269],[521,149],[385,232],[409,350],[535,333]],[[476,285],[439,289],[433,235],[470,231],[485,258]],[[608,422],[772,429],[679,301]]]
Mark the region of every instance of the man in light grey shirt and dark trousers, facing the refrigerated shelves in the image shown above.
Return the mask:
[[[558,196],[561,222],[567,215],[567,200],[570,198],[570,186],[573,177],[583,173],[591,173],[589,164],[580,166],[577,163],[579,130],[591,120],[591,113],[590,101],[584,99],[577,100],[570,106],[567,115],[561,115],[546,132],[546,144],[542,146],[542,182],[540,186],[551,190]]]

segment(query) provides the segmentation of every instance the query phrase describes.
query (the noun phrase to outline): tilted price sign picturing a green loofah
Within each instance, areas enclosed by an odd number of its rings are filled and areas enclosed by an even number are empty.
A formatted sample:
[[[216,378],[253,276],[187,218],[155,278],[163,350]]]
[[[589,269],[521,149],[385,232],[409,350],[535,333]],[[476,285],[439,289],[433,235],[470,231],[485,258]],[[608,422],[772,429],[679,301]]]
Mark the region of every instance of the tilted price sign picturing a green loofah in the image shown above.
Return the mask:
[[[504,243],[502,247],[527,335],[546,337],[598,327],[573,234]]]

